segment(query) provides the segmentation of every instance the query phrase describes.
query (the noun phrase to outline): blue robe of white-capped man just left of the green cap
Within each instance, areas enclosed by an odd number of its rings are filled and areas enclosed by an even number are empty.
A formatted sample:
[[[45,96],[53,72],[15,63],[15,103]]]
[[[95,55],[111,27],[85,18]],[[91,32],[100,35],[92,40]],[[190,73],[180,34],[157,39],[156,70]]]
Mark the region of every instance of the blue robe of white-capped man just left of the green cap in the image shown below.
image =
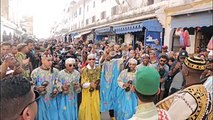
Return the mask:
[[[118,84],[116,91],[116,109],[115,109],[115,117],[116,120],[127,120],[130,119],[136,111],[136,107],[138,104],[136,94],[131,91],[126,92],[122,87],[124,83],[127,83],[129,80],[135,81],[135,74],[127,72],[127,69],[123,70],[118,77]]]

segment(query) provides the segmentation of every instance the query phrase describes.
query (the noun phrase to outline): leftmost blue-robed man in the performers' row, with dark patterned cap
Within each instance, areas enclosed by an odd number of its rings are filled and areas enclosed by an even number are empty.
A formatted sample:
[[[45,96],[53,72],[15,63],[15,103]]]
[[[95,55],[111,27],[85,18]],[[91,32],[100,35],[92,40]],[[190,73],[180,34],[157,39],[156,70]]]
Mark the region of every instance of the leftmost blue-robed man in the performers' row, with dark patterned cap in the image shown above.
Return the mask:
[[[58,120],[58,108],[56,101],[58,70],[52,66],[52,55],[44,52],[41,56],[42,65],[31,73],[35,89],[41,94],[38,101],[37,120]]]

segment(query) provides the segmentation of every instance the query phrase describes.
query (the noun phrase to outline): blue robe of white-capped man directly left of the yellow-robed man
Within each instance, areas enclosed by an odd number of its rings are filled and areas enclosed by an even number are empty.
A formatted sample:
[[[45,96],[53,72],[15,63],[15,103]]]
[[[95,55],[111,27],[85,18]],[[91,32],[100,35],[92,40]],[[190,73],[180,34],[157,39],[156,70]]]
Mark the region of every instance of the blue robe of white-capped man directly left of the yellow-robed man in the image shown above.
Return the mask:
[[[74,70],[66,73],[65,70],[59,72],[59,82],[61,85],[67,83],[79,83],[80,73]],[[60,120],[78,120],[77,92],[71,84],[68,94],[61,93],[58,97],[59,118]]]

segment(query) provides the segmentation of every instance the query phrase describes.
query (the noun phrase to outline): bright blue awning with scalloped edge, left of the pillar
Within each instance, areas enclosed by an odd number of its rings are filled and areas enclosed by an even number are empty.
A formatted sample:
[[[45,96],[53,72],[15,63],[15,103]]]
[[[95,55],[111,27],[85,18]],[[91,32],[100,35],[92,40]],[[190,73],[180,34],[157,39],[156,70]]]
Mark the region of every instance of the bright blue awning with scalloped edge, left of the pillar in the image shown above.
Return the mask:
[[[113,26],[113,31],[116,34],[124,34],[124,33],[142,31],[143,27],[145,27],[148,31],[162,32],[163,30],[159,21],[156,19],[152,19],[152,20],[145,20],[138,23],[132,23],[127,25]]]

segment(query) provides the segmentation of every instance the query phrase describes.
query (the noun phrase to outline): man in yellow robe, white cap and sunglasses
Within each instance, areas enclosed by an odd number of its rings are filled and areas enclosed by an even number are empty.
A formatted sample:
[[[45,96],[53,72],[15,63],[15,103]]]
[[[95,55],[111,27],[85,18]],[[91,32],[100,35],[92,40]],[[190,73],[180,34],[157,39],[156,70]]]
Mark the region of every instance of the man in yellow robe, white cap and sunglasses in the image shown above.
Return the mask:
[[[95,66],[95,55],[89,54],[88,65],[81,75],[82,102],[79,107],[79,120],[100,120],[99,66]]]

